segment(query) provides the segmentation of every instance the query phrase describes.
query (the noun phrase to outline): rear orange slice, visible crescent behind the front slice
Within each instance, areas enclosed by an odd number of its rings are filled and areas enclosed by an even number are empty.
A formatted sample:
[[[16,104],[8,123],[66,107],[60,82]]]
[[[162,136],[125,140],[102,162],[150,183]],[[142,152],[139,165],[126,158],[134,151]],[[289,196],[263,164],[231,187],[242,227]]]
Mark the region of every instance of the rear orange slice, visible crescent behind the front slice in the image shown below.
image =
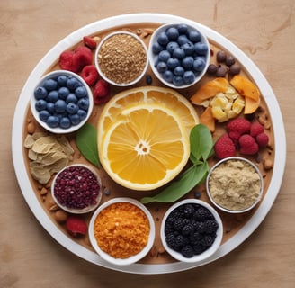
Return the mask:
[[[104,106],[98,121],[98,147],[101,146],[104,132],[116,121],[118,115],[124,109],[142,103],[157,103],[171,109],[179,115],[188,132],[199,123],[198,114],[192,103],[182,94],[169,88],[156,86],[133,88],[114,95]]]

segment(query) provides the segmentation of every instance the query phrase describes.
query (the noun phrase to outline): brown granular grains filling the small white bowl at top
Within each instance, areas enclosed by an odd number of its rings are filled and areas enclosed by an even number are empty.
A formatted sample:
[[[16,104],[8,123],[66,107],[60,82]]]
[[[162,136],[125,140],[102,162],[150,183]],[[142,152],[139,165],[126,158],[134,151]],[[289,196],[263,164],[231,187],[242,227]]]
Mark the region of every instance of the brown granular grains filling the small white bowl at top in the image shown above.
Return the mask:
[[[124,33],[105,40],[97,58],[103,75],[120,85],[136,80],[147,63],[143,45],[133,36]]]

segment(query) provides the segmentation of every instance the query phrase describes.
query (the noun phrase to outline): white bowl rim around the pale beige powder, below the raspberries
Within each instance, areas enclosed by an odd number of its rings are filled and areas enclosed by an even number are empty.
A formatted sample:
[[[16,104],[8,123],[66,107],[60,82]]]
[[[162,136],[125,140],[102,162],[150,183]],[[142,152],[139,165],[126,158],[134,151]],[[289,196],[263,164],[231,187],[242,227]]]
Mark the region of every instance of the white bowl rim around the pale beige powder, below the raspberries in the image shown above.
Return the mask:
[[[259,179],[260,179],[260,189],[259,189],[259,192],[258,192],[258,195],[255,196],[255,201],[252,202],[251,204],[249,204],[248,206],[242,208],[242,209],[229,209],[228,207],[225,207],[223,206],[222,204],[220,204],[220,202],[216,199],[214,199],[214,196],[212,196],[211,192],[210,192],[210,178],[212,176],[212,173],[213,171],[219,167],[221,164],[224,164],[224,163],[227,163],[228,161],[238,161],[238,162],[241,162],[241,163],[246,163],[247,165],[249,166],[252,166],[255,173],[259,176]],[[244,169],[243,172],[240,172],[242,175],[245,175],[246,171]],[[232,182],[230,181],[230,178],[237,178],[237,173],[226,173],[224,172],[224,175],[222,175],[223,178],[227,177],[226,178],[226,182]],[[249,183],[249,177],[245,176],[245,179],[246,181]],[[242,181],[239,181],[239,185],[241,184]],[[219,187],[220,187],[220,184],[217,184]],[[251,209],[253,209],[255,207],[255,205],[257,205],[257,203],[261,200],[262,198],[262,194],[264,192],[264,180],[263,180],[263,177],[258,169],[257,166],[255,166],[255,164],[253,162],[251,162],[250,160],[246,159],[245,157],[227,157],[227,158],[224,158],[222,160],[220,160],[218,163],[216,163],[214,166],[211,167],[210,169],[210,173],[207,175],[207,179],[206,179],[206,190],[207,190],[207,194],[210,198],[210,201],[217,207],[219,208],[220,210],[222,211],[227,211],[229,213],[242,213],[242,212],[246,212],[246,211],[249,211]],[[247,192],[249,191],[249,189],[247,188]],[[220,192],[220,191],[219,191]],[[230,193],[229,192],[229,188],[227,189],[223,189],[223,192],[224,193]],[[239,193],[240,194],[240,193]],[[235,203],[235,202],[234,202]]]

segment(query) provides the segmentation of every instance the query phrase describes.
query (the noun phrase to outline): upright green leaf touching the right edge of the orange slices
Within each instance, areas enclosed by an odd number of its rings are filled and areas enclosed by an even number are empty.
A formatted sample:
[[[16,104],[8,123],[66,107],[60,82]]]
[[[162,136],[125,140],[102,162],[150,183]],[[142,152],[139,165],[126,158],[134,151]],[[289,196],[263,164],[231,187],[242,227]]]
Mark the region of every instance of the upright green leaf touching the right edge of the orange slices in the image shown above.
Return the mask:
[[[212,154],[213,139],[210,130],[203,124],[192,128],[190,134],[191,161],[197,164],[201,159],[206,161]]]

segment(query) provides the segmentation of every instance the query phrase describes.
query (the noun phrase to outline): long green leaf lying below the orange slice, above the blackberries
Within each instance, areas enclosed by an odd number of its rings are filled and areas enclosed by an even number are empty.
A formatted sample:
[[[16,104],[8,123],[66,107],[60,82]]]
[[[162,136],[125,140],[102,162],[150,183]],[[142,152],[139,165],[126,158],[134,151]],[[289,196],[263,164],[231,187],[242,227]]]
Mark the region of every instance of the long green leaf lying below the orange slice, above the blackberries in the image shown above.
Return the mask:
[[[208,174],[210,167],[207,162],[201,165],[193,165],[188,168],[177,181],[167,186],[162,192],[153,197],[144,197],[140,202],[147,204],[149,202],[175,202],[189,193],[197,184],[201,184]]]

